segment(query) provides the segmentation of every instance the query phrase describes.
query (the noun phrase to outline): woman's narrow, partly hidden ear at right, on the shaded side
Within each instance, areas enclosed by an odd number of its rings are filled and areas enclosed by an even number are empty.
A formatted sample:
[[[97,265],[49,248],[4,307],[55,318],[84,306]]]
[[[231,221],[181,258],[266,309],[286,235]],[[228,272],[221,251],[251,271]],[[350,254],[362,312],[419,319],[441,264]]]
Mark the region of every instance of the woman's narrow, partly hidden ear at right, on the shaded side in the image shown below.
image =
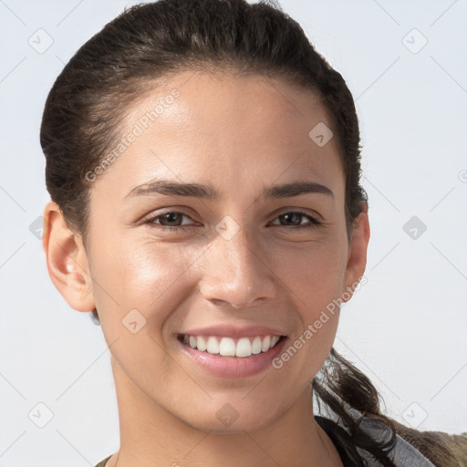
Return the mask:
[[[358,214],[354,221],[352,238],[348,248],[348,263],[344,279],[345,288],[342,290],[344,302],[348,302],[353,296],[354,290],[367,266],[369,241],[368,202],[362,202],[362,206],[362,212]]]

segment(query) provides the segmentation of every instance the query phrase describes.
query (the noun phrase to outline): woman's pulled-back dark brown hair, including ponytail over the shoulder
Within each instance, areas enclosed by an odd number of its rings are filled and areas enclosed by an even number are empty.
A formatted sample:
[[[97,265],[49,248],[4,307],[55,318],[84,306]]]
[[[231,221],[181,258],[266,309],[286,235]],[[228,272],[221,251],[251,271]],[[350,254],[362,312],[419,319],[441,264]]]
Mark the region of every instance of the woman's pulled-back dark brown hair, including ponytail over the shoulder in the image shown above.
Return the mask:
[[[332,119],[346,176],[348,240],[368,199],[359,184],[358,117],[345,80],[321,57],[303,29],[280,9],[245,0],[160,0],[134,5],[79,48],[50,90],[40,143],[47,158],[46,182],[68,227],[86,245],[89,188],[94,171],[119,138],[121,118],[157,87],[161,78],[184,70],[227,70],[240,75],[282,77],[317,93]],[[93,316],[99,321],[97,310]],[[313,380],[318,400],[348,428],[355,446],[393,466],[388,451],[398,432],[439,466],[461,465],[463,437],[427,435],[381,413],[370,380],[332,349]],[[384,423],[389,439],[368,437],[350,411]]]

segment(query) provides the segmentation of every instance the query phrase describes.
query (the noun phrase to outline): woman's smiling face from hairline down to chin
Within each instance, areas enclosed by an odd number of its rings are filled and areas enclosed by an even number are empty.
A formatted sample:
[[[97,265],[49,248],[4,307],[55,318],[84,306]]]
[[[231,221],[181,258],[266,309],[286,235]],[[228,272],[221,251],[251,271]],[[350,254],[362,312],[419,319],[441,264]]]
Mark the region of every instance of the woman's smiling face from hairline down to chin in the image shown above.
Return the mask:
[[[337,330],[338,308],[323,311],[365,268],[337,140],[309,135],[331,120],[278,78],[186,72],[130,109],[121,137],[135,124],[92,182],[81,251],[116,384],[203,430],[265,427],[310,397]]]

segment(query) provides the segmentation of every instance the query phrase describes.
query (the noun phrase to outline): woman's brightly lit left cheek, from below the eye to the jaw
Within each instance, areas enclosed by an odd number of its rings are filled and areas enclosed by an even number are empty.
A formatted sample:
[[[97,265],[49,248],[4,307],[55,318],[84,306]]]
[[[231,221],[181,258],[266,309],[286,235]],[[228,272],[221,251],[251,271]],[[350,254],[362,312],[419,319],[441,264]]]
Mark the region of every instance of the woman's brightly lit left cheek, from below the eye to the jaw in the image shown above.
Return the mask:
[[[161,247],[130,241],[130,236],[128,244],[108,244],[99,251],[96,279],[101,286],[95,296],[102,332],[119,366],[147,390],[167,392],[182,379],[174,372],[174,342],[164,331],[169,323],[171,330],[177,327],[177,310],[192,291],[191,257],[174,244]],[[155,382],[148,375],[160,378]]]

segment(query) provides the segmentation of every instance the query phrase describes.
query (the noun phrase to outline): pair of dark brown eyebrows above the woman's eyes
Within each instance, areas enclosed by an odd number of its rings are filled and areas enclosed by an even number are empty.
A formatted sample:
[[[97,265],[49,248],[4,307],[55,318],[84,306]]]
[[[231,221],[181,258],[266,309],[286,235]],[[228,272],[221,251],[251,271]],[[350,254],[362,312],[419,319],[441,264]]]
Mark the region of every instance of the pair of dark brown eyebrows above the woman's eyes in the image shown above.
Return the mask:
[[[202,185],[199,183],[182,183],[169,180],[152,180],[142,185],[134,187],[123,201],[130,200],[137,196],[147,196],[151,194],[165,194],[172,196],[189,196],[206,200],[216,200],[221,197],[213,185]],[[266,199],[291,198],[300,194],[321,193],[327,194],[334,200],[334,193],[327,186],[316,182],[289,182],[278,185],[267,186],[261,192],[261,196]]]

